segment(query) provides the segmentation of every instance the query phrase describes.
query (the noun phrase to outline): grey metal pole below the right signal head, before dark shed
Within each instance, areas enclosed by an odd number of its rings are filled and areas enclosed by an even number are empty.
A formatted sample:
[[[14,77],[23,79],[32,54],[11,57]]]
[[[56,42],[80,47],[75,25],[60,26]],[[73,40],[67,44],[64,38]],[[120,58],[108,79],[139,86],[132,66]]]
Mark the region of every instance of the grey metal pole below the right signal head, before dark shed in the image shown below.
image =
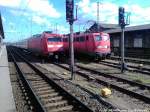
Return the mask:
[[[122,32],[121,32],[121,73],[124,72],[124,66],[125,66],[125,62],[124,62],[124,28],[122,28]]]

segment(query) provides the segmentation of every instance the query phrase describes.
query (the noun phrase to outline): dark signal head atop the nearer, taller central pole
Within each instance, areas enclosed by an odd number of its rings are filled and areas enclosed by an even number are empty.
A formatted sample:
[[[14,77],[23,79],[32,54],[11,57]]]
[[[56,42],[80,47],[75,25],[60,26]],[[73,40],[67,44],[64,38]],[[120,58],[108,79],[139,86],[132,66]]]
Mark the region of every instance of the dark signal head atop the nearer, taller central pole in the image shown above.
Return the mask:
[[[74,0],[66,0],[66,20],[69,22],[74,21],[73,10],[74,10]]]

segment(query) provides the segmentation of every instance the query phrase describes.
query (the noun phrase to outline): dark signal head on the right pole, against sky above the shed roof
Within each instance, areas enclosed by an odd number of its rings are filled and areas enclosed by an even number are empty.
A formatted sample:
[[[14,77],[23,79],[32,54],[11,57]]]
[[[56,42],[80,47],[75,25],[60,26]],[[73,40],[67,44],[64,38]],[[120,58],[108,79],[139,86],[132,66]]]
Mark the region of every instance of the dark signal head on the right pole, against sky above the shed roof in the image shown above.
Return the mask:
[[[119,7],[119,25],[121,27],[125,26],[125,15],[124,15],[124,8],[123,7]]]

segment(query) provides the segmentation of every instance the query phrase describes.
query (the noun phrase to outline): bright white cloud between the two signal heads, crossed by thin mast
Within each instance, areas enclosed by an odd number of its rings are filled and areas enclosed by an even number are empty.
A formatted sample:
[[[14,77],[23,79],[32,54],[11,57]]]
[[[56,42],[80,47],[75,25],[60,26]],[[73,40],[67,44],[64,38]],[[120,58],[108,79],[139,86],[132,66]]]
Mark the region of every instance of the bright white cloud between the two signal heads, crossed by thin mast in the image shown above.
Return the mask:
[[[82,15],[82,20],[97,20],[97,2],[90,2],[89,0],[82,0],[78,3],[79,15]],[[118,15],[118,6],[114,3],[104,2],[99,4],[99,19],[100,21],[116,22],[115,16]],[[114,17],[113,17],[114,16]],[[113,18],[113,21],[112,21]]]

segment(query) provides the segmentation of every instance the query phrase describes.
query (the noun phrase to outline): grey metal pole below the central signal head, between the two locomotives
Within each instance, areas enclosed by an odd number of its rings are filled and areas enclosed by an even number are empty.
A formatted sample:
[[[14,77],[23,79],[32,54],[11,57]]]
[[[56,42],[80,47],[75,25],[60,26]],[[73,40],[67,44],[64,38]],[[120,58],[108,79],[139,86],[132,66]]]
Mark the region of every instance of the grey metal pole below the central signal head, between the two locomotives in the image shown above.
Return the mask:
[[[75,80],[74,76],[74,46],[73,46],[73,22],[70,23],[70,57],[71,57],[71,80]]]

